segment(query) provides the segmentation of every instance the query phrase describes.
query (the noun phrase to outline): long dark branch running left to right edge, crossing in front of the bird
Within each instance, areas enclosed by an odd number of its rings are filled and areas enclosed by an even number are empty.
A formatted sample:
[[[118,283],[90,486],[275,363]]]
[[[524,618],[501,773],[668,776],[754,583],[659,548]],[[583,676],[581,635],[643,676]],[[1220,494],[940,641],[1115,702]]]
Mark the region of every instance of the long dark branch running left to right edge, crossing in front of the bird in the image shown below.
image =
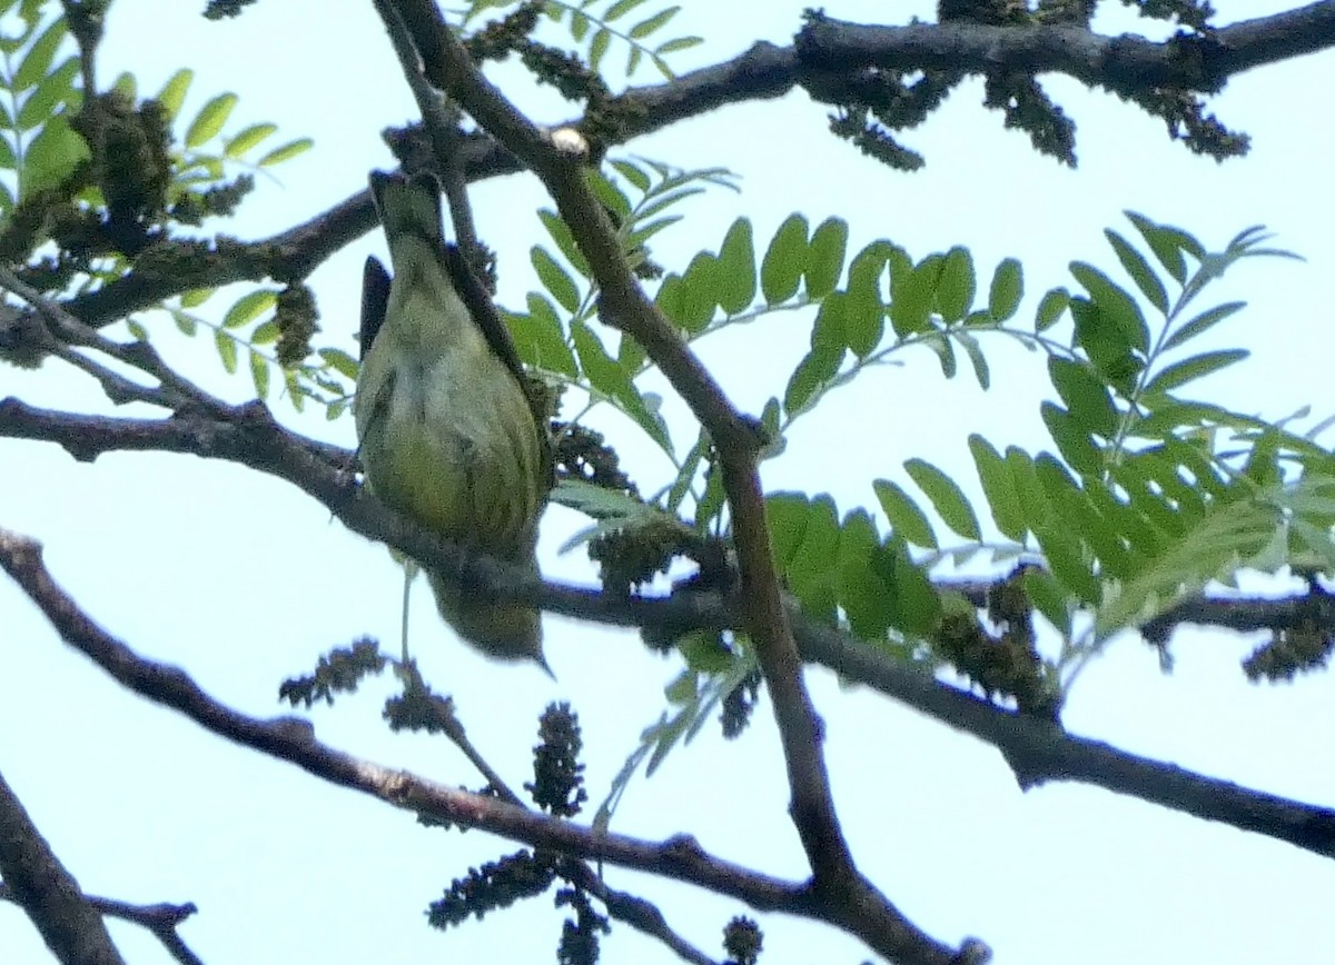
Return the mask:
[[[718,594],[676,593],[663,599],[625,598],[571,586],[539,583],[487,559],[467,559],[457,547],[425,535],[419,527],[359,493],[351,454],[276,426],[255,403],[236,410],[235,420],[202,414],[168,419],[113,419],[35,408],[17,399],[0,400],[0,436],[53,442],[76,459],[91,460],[107,451],[188,452],[227,459],[286,479],[319,501],[354,533],[437,567],[466,570],[479,591],[522,599],[578,619],[617,626],[649,626],[670,631],[740,629],[736,601]],[[952,589],[960,585],[952,583]],[[967,587],[965,587],[967,589]],[[1199,598],[1169,613],[1196,623],[1236,630],[1282,626],[1292,619],[1295,601]],[[1268,610],[1267,610],[1268,607]],[[1129,794],[1151,803],[1185,810],[1196,817],[1266,834],[1335,857],[1335,810],[1238,787],[1157,761],[1136,757],[1060,726],[1024,717],[933,679],[898,663],[865,643],[792,614],[794,634],[806,661],[865,683],[914,710],[1000,749],[1021,786],[1044,781],[1080,781]],[[1254,623],[1255,621],[1255,623]]]

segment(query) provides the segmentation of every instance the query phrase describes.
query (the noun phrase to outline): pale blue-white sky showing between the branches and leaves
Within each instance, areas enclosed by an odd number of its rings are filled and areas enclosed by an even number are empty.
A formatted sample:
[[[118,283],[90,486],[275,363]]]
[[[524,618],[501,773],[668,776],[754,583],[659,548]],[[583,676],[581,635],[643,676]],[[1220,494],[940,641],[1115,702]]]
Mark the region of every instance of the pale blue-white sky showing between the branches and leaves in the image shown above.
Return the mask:
[[[678,69],[744,49],[754,39],[785,43],[801,3],[686,3],[680,33],[706,45],[678,56]],[[1279,3],[1220,0],[1218,23],[1283,9]],[[276,170],[235,222],[262,238],[306,220],[358,191],[372,167],[390,166],[379,131],[414,115],[368,3],[263,0],[235,21],[208,23],[203,0],[119,0],[108,19],[101,72],[132,69],[156,91],[183,65],[196,71],[187,113],[214,93],[236,91],[234,129],[272,120],[283,135],[308,135],[315,149]],[[884,17],[884,3],[830,3],[830,16]],[[926,4],[894,16],[929,16]],[[1123,29],[1123,19],[1115,21]],[[1135,27],[1135,21],[1127,21]],[[1145,24],[1152,29],[1155,24]],[[615,48],[614,48],[615,52]],[[623,56],[623,51],[621,53]],[[1214,101],[1222,119],[1250,132],[1250,157],[1219,166],[1189,155],[1161,124],[1120,100],[1071,81],[1051,84],[1079,124],[1080,168],[1036,156],[1027,137],[1001,129],[969,84],[905,141],[926,155],[914,175],[892,172],[825,133],[826,109],[801,93],[732,107],[634,141],[627,153],[680,167],[726,166],[742,194],[717,191],[654,240],[655,258],[684,267],[717,247],[746,215],[768,239],[792,211],[816,223],[849,219],[852,244],[888,238],[916,258],[965,244],[991,271],[1004,256],[1025,267],[1027,299],[1069,284],[1067,264],[1112,272],[1103,228],[1127,230],[1131,208],[1180,224],[1208,246],[1264,223],[1306,263],[1250,262],[1211,291],[1250,308],[1208,347],[1243,346],[1254,358],[1203,383],[1203,394],[1271,418],[1311,404],[1335,410],[1327,388],[1335,335],[1322,286],[1335,263],[1328,223],[1335,135],[1324,123],[1331,53],[1235,79]],[[615,60],[617,56],[613,56]],[[514,71],[498,71],[513,81]],[[651,83],[649,73],[637,83]],[[539,120],[569,108],[525,97]],[[522,304],[535,284],[527,250],[545,243],[533,212],[543,199],[529,176],[478,186],[478,224],[501,255],[501,299]],[[311,278],[323,335],[352,350],[360,262],[383,252],[378,232]],[[238,294],[244,291],[238,288]],[[228,302],[219,298],[223,306]],[[210,303],[210,307],[214,303]],[[206,307],[207,308],[207,307]],[[142,319],[207,387],[242,400],[248,375],[222,372],[206,340],[188,343],[166,316]],[[781,314],[702,346],[708,363],[752,411],[782,394],[801,358],[809,318]],[[902,460],[926,458],[977,493],[964,438],[1037,451],[1051,443],[1039,419],[1047,391],[1041,359],[988,344],[993,387],[981,392],[967,367],[947,382],[928,354],[905,356],[828,400],[794,428],[782,459],[766,463],[768,489],[828,491],[840,509],[874,507],[870,480],[896,476]],[[1202,344],[1202,348],[1207,346]],[[95,384],[56,363],[40,372],[0,368],[0,396],[76,411],[109,410]],[[288,424],[342,444],[351,419],[296,416]],[[694,439],[685,410],[669,400],[682,451]],[[117,414],[125,414],[121,410]],[[646,490],[665,464],[605,423]],[[621,432],[621,435],[615,435]],[[247,713],[286,713],[279,681],[362,634],[396,646],[400,577],[384,549],[346,533],[328,513],[278,480],[226,463],[175,455],[107,455],[75,463],[45,444],[0,440],[0,526],[47,546],[52,573],[111,633],[140,653],[178,663],[215,697]],[[578,557],[555,547],[577,519],[549,513],[547,575],[587,581]],[[210,962],[551,961],[562,914],[550,897],[469,922],[427,928],[426,905],[469,865],[518,849],[482,833],[425,830],[411,816],[323,785],[295,767],[227,745],[192,722],[111,683],[65,647],[27,598],[0,581],[5,673],[0,677],[0,769],[83,888],[132,902],[194,901],[182,929]],[[537,715],[569,699],[585,725],[590,797],[657,719],[662,686],[678,665],[647,654],[633,634],[547,618],[547,655],[559,682],[495,666],[465,650],[434,615],[425,590],[413,613],[414,642],[433,685],[458,701],[474,742],[511,785],[530,774]],[[1137,639],[1115,642],[1068,702],[1079,734],[1206,774],[1315,803],[1335,801],[1335,769],[1318,747],[1335,725],[1324,675],[1290,686],[1248,685],[1238,659],[1250,643],[1227,633],[1180,631],[1177,669],[1164,677]],[[862,869],[918,925],[943,941],[979,936],[1000,965],[1324,961],[1335,957],[1328,860],[1231,828],[1207,825],[1141,801],[1081,785],[1021,793],[989,746],[956,735],[828,673],[808,675],[829,733],[836,801]],[[379,722],[384,687],[368,687],[314,714],[319,737],[338,747],[450,783],[481,778],[442,739],[391,735]],[[665,837],[688,832],[721,857],[773,874],[805,866],[786,818],[788,801],[769,703],[753,727],[724,742],[708,726],[651,778],[637,779],[613,828]],[[591,813],[591,812],[590,812]],[[722,958],[724,924],[749,913],[697,889],[618,869],[609,882],[655,901],[669,922]],[[858,962],[858,942],[832,929],[758,916],[762,962]],[[170,958],[144,930],[112,922],[127,960]],[[49,961],[15,906],[0,905],[0,961]],[[677,961],[663,946],[617,925],[606,962]]]

